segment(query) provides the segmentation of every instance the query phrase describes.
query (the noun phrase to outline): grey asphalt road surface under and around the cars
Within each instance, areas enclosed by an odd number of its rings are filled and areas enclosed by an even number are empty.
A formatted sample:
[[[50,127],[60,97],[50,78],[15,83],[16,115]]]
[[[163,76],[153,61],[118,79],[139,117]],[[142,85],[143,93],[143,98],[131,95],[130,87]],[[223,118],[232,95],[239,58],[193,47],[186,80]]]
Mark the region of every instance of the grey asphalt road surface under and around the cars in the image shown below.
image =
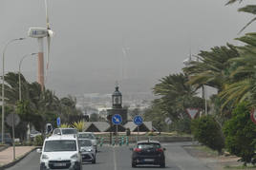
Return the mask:
[[[166,148],[165,160],[166,167],[164,169],[171,170],[208,170],[207,164],[196,158],[191,157],[181,147],[189,145],[190,142],[175,142],[162,144]],[[83,169],[92,170],[131,170],[131,169],[160,169],[158,166],[140,166],[131,167],[131,151],[132,146],[103,146],[99,148],[96,156],[96,164],[85,163]],[[8,170],[36,170],[39,169],[39,154],[35,151],[27,156],[23,161],[18,162]]]

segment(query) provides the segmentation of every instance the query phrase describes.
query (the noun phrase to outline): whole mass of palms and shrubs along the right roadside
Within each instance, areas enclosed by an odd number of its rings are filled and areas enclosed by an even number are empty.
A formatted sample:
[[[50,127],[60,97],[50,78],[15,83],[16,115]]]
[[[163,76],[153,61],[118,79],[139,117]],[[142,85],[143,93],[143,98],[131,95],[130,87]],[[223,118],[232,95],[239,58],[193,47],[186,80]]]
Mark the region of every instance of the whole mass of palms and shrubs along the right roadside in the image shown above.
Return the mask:
[[[229,0],[226,5],[242,1]],[[256,20],[256,5],[238,10],[254,16],[241,28],[240,32],[244,32]],[[256,124],[250,120],[250,112],[256,107],[256,32],[235,40],[244,46],[227,43],[202,50],[190,57],[181,73],[161,78],[153,88],[158,99],[146,110],[144,120],[153,121],[159,131],[192,134],[219,154],[227,150],[240,157],[246,166],[256,163]],[[199,96],[205,85],[217,91],[206,99],[207,115],[204,95]],[[200,117],[191,120],[186,113],[189,107],[198,108]],[[165,123],[166,119],[172,123]]]

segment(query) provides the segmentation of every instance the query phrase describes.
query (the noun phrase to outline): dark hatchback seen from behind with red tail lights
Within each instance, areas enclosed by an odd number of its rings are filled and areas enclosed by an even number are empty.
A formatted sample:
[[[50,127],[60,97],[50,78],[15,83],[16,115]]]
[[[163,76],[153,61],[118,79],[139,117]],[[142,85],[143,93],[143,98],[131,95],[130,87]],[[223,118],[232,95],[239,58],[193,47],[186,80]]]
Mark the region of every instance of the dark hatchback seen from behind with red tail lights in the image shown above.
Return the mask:
[[[164,150],[158,141],[137,142],[132,154],[132,167],[138,164],[154,164],[165,167]]]

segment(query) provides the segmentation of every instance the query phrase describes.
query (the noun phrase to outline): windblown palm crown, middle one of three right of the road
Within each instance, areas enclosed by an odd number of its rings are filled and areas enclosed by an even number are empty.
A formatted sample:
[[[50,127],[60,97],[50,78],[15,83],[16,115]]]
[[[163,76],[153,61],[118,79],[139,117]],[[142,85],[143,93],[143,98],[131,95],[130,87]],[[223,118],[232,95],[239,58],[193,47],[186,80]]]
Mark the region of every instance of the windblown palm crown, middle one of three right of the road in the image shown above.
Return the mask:
[[[238,50],[230,44],[227,47],[212,47],[211,51],[201,51],[198,61],[192,61],[183,71],[189,76],[190,85],[198,88],[208,85],[222,91],[230,74],[228,61],[238,57]]]

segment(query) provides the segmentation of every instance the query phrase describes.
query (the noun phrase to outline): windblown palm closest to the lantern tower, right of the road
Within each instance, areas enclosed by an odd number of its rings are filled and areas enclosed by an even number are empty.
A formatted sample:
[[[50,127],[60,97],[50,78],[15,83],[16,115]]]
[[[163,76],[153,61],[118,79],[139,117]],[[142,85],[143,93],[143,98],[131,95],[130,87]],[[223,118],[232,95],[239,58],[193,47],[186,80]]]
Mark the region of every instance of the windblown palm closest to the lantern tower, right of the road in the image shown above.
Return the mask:
[[[187,107],[203,108],[203,101],[196,97],[196,88],[187,84],[188,77],[182,73],[172,74],[160,79],[160,84],[155,85],[153,92],[160,96],[155,100],[155,105],[161,108],[163,116],[169,116],[173,121],[185,116]]]

